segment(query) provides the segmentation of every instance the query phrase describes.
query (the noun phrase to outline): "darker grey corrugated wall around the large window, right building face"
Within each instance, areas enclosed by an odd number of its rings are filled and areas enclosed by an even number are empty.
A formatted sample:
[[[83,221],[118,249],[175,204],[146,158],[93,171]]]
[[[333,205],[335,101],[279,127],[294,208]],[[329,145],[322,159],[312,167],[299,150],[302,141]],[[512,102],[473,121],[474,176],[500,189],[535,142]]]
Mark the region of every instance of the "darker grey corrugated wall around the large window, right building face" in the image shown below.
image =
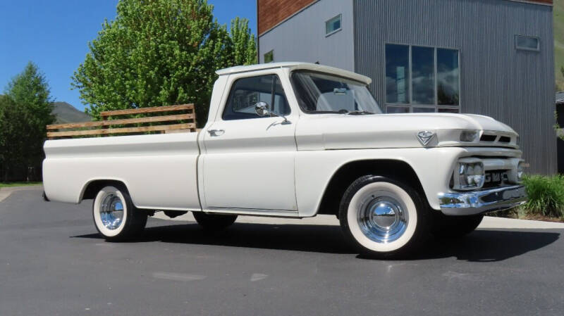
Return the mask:
[[[386,43],[460,51],[462,113],[489,115],[521,135],[527,172],[557,170],[552,7],[505,0],[355,0],[355,71],[386,101]],[[515,49],[515,35],[540,51]]]

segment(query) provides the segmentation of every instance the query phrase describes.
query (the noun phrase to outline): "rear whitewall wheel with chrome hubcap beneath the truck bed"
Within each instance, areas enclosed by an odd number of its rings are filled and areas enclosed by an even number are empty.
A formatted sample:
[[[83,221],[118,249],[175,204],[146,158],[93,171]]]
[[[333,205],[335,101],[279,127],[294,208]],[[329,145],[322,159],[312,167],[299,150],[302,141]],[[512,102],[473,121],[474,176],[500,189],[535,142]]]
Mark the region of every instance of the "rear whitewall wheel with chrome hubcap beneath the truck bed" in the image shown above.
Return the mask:
[[[123,241],[138,236],[147,224],[147,213],[137,210],[125,187],[101,189],[92,203],[94,225],[107,241]]]

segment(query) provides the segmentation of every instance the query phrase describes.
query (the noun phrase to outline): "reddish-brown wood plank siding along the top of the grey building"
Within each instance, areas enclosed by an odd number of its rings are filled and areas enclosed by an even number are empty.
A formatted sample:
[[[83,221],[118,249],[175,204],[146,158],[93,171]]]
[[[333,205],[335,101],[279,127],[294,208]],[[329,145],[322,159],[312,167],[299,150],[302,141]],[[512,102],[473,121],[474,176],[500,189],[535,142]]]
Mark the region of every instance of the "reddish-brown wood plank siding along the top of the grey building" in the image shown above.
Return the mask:
[[[259,36],[319,0],[257,0]],[[501,0],[500,0],[501,1]],[[503,0],[505,1],[505,0]],[[508,0],[552,5],[553,0]]]

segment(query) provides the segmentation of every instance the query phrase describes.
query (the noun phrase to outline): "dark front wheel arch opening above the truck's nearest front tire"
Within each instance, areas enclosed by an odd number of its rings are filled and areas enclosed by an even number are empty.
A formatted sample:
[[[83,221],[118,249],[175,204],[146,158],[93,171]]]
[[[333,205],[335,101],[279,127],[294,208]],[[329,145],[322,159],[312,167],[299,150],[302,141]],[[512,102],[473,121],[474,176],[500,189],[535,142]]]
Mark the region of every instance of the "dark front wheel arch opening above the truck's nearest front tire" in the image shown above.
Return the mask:
[[[417,172],[405,160],[363,159],[343,163],[333,172],[321,196],[317,214],[338,215],[339,203],[346,189],[364,175],[380,175],[405,182],[417,190],[424,199],[424,203],[429,205]]]

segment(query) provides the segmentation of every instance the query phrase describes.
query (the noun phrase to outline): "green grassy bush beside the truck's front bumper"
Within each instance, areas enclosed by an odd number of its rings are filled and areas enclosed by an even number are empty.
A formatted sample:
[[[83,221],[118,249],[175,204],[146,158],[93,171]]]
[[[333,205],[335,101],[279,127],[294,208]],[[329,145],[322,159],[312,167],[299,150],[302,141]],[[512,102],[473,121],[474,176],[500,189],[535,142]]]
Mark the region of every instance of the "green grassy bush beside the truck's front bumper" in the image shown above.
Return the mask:
[[[530,215],[564,217],[564,176],[527,175],[523,179],[529,201],[523,206]]]

